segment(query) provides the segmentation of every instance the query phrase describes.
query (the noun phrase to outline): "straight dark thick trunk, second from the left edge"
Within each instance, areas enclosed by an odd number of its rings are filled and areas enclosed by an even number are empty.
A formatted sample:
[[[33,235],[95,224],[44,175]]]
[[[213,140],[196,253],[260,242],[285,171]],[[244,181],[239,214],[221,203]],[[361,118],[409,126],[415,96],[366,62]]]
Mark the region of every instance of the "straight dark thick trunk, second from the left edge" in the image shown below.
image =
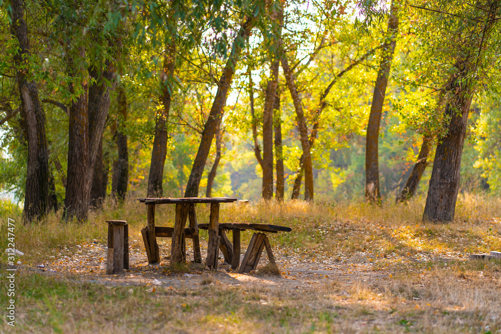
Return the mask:
[[[80,57],[85,53],[80,50]],[[73,60],[68,59],[69,74],[77,76]],[[75,83],[70,84],[70,93],[75,94]],[[66,184],[65,216],[86,220],[90,192],[87,192],[86,175],[89,169],[89,118],[87,114],[87,87],[83,93],[70,102],[69,138],[68,138],[68,172]]]

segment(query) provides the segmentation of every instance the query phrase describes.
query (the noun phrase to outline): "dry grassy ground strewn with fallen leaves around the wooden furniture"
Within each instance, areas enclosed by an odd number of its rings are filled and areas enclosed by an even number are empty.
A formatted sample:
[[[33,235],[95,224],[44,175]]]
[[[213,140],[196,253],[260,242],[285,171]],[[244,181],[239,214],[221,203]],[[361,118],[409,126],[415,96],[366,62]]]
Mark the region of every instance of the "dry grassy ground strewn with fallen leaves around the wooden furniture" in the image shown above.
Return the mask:
[[[16,226],[17,248],[25,252],[16,280],[16,327],[4,322],[0,332],[501,330],[501,262],[468,259],[472,252],[501,250],[497,199],[463,196],[456,220],[443,225],[419,221],[422,199],[376,208],[298,201],[222,209],[221,220],[293,228],[270,236],[280,275],[266,273],[266,253],[249,274],[221,262],[217,271],[201,264],[171,267],[170,239],[160,239],[162,260],[149,265],[139,235],[144,207],[124,206],[105,207],[86,224],[63,224],[55,215],[45,225]],[[208,209],[198,210],[204,222]],[[165,211],[169,225],[173,212]],[[102,220],[126,213],[133,218],[130,269],[106,275]],[[251,234],[242,235],[242,249]],[[203,258],[206,235],[201,239]],[[187,250],[192,258],[189,242]]]

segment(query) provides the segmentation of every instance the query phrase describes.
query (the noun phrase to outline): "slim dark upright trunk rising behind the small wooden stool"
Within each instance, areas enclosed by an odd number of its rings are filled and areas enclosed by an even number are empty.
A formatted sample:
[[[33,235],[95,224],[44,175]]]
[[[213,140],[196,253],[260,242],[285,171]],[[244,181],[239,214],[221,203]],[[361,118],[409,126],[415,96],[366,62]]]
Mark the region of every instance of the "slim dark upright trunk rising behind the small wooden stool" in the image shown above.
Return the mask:
[[[118,88],[118,112],[122,119],[118,122],[118,128],[116,132],[117,148],[118,148],[118,163],[117,163],[117,174],[113,174],[113,177],[117,179],[116,181],[116,193],[114,195],[119,201],[125,199],[127,194],[127,183],[129,176],[129,154],[127,150],[127,136],[124,133],[125,121],[127,120],[127,96],[123,86]]]

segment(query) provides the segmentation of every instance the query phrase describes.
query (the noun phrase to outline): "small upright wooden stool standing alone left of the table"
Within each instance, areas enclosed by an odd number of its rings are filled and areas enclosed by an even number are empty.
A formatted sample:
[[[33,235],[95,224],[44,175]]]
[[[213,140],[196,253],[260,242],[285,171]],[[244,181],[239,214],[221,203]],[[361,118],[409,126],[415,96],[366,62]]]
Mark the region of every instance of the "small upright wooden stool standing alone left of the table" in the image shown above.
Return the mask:
[[[127,220],[105,220],[108,223],[108,255],[106,273],[121,273],[129,269],[129,225]]]

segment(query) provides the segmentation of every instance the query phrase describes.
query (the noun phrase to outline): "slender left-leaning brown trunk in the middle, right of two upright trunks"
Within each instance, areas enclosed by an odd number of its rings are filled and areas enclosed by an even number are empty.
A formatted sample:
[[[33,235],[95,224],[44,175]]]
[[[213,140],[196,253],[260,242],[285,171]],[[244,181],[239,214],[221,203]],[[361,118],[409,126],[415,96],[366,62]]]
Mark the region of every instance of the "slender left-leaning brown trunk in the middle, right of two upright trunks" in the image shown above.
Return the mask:
[[[297,122],[299,134],[301,137],[301,146],[303,148],[303,167],[305,169],[305,200],[313,200],[313,165],[310,154],[310,141],[308,138],[308,128],[306,126],[305,115],[303,113],[303,105],[299,97],[294,76],[289,67],[289,63],[285,55],[282,56],[282,68],[284,69],[284,76],[287,81],[287,86],[291,92],[291,97],[296,109]]]

